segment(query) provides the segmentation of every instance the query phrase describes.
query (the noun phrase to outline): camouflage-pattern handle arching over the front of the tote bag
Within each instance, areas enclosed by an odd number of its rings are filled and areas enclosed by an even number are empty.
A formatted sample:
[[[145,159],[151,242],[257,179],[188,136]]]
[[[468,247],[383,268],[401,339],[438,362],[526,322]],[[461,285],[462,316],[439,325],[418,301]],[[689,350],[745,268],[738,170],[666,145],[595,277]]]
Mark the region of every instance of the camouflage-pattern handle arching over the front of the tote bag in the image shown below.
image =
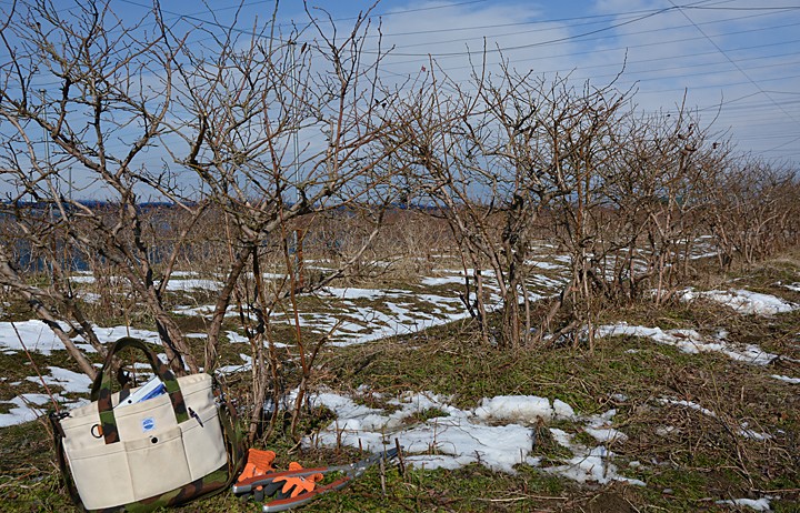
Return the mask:
[[[117,429],[117,418],[114,416],[113,405],[111,404],[111,363],[114,354],[119,353],[126,348],[134,348],[144,353],[153,373],[159,376],[161,382],[167,389],[167,394],[172,403],[172,411],[176,414],[176,421],[180,424],[189,420],[189,413],[187,412],[186,402],[183,401],[183,393],[181,393],[178,379],[169,370],[169,368],[158,358],[156,353],[148,348],[143,341],[133,339],[131,336],[123,336],[113,343],[106,355],[106,362],[103,363],[102,370],[98,372],[92,383],[91,400],[97,401],[98,412],[100,413],[100,428],[102,431],[106,444],[117,443],[120,441],[119,431]]]

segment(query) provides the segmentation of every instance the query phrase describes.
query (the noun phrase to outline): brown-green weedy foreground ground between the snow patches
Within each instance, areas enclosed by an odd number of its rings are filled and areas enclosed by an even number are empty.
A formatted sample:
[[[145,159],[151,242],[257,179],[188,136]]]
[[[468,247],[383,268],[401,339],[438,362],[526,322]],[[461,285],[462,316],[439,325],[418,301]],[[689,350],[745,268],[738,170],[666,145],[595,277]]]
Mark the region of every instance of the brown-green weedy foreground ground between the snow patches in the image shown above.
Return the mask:
[[[783,286],[796,282],[800,282],[797,255],[716,276],[700,286],[741,288],[800,303],[800,293]],[[467,323],[330,349],[320,356],[314,384],[341,392],[362,385],[388,395],[432,391],[452,396],[452,404],[459,408],[474,408],[482,398],[501,394],[560,399],[581,414],[614,408],[614,428],[628,440],[609,445],[617,454],[613,463],[623,475],[647,485],[579,484],[527,465],[518,465],[510,475],[478,464],[454,471],[392,464],[382,472],[372,467],[346,490],[321,496],[304,511],[721,512],[751,510],[718,501],[763,496],[771,497],[772,511],[800,511],[800,385],[772,378],[800,378],[800,310],[758,316],[739,315],[702,301],[659,308],[642,303],[609,310],[601,321],[701,333],[726,330],[728,340],[754,343],[781,358],[757,366],[719,353],[687,354],[634,336],[600,339],[592,352],[571,346],[510,352],[481,345]],[[19,374],[17,379],[31,375],[27,359],[0,359],[7,374]],[[46,364],[43,359],[38,363]],[[67,362],[58,364],[68,366]],[[11,392],[4,390],[9,381],[0,393]],[[701,404],[717,415],[664,405],[659,402],[662,398]],[[419,420],[424,418],[423,412]],[[329,412],[310,412],[306,429],[323,425],[328,419]],[[742,436],[739,428],[743,423],[771,437]],[[570,454],[552,440],[548,426],[536,428],[533,455],[559,464]],[[666,432],[663,426],[671,430]],[[0,434],[0,507],[69,511],[46,423],[7,428]],[[340,464],[359,457],[358,451],[343,447],[303,451],[288,437],[274,437],[266,445],[276,450],[284,464],[290,460],[306,465]],[[260,511],[260,505],[224,493],[180,511],[236,513]]]

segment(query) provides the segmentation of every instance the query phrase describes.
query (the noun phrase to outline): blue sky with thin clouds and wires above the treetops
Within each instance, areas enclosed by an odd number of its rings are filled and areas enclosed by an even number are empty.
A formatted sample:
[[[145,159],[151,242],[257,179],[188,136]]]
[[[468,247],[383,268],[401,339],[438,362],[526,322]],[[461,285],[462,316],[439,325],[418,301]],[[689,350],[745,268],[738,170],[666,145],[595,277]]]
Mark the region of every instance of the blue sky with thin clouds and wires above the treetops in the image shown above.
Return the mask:
[[[146,1],[114,0],[136,17]],[[217,0],[213,16],[230,23],[239,3]],[[373,2],[309,1],[340,28]],[[246,30],[267,21],[271,1],[247,1],[239,17]],[[176,22],[213,21],[199,2],[167,0]],[[180,17],[184,18],[180,18]],[[800,162],[800,1],[797,0],[384,0],[372,10],[383,46],[393,46],[384,71],[408,76],[429,59],[466,79],[468,52],[486,40],[512,66],[566,74],[602,86],[622,69],[621,88],[634,87],[643,111],[674,111],[687,94],[707,123],[728,133],[742,152]],[[280,2],[279,20],[304,20],[302,2]],[[719,112],[719,115],[718,115]]]

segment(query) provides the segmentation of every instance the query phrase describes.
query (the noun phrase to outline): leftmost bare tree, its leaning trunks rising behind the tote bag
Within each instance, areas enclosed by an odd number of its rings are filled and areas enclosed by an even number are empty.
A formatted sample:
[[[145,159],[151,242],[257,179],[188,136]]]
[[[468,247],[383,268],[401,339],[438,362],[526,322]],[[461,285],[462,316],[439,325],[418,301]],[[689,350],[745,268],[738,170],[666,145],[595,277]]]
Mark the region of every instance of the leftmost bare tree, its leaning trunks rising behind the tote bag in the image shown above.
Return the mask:
[[[26,285],[4,251],[3,283],[24,294],[81,369],[93,375],[68,334],[74,331],[104,350],[81,311],[62,255],[100,255],[146,303],[173,368],[182,372],[186,363],[197,371],[164,305],[169,269],[166,275],[154,269],[140,209],[142,197],[172,195],[168,171],[152,172],[138,162],[168,130],[170,60],[180,42],[168,44],[158,11],[132,26],[96,2],[66,13],[49,2],[21,3],[9,16],[2,36],[11,59],[0,71],[0,118],[7,127],[0,134],[0,158],[3,179],[14,189],[3,209],[17,220],[17,237],[46,260],[50,280],[44,286]],[[148,31],[146,23],[152,27]],[[44,84],[49,92],[40,94],[37,88]],[[80,169],[80,182],[68,182],[72,169]],[[84,188],[102,194],[108,207],[77,201]],[[204,208],[183,207],[194,218]]]

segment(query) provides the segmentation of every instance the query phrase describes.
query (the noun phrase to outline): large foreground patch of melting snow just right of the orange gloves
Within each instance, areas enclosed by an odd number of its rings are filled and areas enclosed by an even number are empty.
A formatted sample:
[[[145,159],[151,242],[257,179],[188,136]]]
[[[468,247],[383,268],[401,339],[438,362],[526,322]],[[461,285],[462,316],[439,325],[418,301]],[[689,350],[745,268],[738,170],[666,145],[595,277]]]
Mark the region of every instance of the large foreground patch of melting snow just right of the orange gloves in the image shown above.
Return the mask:
[[[393,413],[357,404],[352,399],[326,392],[311,399],[312,404],[332,410],[338,420],[317,435],[306,439],[307,445],[338,444],[379,451],[393,445],[397,439],[410,455],[406,461],[424,469],[457,469],[470,463],[481,463],[489,469],[514,472],[514,465],[539,465],[540,459],[531,455],[536,443],[532,425],[553,418],[576,418],[572,408],[563,401],[552,404],[536,395],[500,395],[484,398],[474,410],[460,410],[448,404],[448,398],[432,393],[409,393],[389,401],[398,406]],[[424,422],[413,422],[420,412],[441,412]],[[604,425],[614,411],[591,416],[589,425]],[[592,428],[590,428],[592,429]],[[596,428],[598,433],[601,431]],[[624,440],[624,434],[607,429],[612,439]],[[553,439],[570,449],[573,457],[563,465],[546,469],[580,482],[624,481],[643,484],[617,474],[617,467],[608,460],[612,453],[604,447],[587,449],[572,444],[572,435],[551,429]]]

